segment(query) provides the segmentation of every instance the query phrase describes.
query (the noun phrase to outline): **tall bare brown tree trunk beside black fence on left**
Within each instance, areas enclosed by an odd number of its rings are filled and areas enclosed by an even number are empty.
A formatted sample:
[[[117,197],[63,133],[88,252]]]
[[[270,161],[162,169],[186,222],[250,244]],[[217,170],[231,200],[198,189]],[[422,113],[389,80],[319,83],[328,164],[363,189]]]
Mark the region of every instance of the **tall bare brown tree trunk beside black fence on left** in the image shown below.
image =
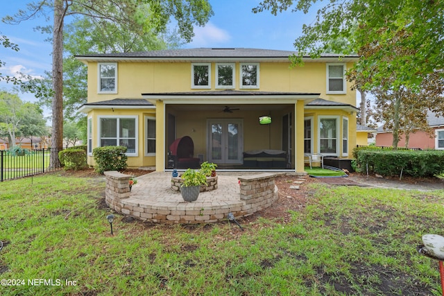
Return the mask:
[[[63,148],[63,0],[54,1],[53,28],[53,133],[49,166],[59,168],[58,148]],[[56,149],[54,149],[56,148]]]

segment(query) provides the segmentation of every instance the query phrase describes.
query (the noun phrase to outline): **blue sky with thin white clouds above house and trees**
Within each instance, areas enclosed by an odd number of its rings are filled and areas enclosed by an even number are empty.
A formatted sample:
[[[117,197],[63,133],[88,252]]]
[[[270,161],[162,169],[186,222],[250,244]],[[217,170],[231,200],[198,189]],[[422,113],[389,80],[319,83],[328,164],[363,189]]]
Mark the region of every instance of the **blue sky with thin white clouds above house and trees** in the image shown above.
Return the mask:
[[[31,0],[9,1],[2,6],[0,17],[13,15],[25,9]],[[214,16],[204,28],[195,28],[193,42],[184,47],[244,47],[256,49],[280,49],[293,51],[293,42],[301,34],[302,24],[315,19],[316,9],[311,14],[302,12],[282,12],[277,16],[271,12],[254,14],[252,8],[257,0],[210,0]],[[0,23],[0,33],[19,45],[18,52],[0,46],[0,60],[6,62],[0,68],[3,75],[14,76],[17,71],[31,76],[42,76],[51,71],[51,51],[46,35],[34,31],[35,26],[46,26],[44,17],[24,21],[18,25]],[[10,90],[12,86],[0,82],[0,89]],[[24,101],[37,101],[32,94],[19,94]]]

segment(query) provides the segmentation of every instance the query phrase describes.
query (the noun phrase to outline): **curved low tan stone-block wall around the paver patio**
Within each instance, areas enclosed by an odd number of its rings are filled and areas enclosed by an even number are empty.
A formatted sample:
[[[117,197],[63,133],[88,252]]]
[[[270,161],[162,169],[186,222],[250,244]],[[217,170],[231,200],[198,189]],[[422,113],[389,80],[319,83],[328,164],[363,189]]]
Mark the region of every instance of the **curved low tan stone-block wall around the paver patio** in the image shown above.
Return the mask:
[[[214,190],[210,193],[210,202],[199,199],[196,202],[178,202],[178,196],[180,199],[182,197],[177,193],[175,198],[166,197],[161,202],[157,196],[138,198],[137,193],[130,193],[129,175],[108,171],[105,177],[105,202],[108,207],[120,214],[153,223],[214,223],[227,218],[230,212],[234,217],[241,218],[270,207],[278,197],[275,174],[272,173],[238,177],[239,199],[230,196],[225,200],[223,191],[219,195]],[[138,182],[137,186],[144,186],[141,183]]]

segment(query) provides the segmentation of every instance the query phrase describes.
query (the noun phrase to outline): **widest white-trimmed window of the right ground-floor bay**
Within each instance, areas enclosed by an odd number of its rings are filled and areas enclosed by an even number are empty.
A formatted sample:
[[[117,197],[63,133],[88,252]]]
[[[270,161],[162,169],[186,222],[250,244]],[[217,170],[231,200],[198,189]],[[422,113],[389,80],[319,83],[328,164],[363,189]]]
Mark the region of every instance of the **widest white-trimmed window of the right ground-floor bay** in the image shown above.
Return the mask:
[[[339,154],[339,117],[319,116],[318,117],[318,149],[323,155]]]

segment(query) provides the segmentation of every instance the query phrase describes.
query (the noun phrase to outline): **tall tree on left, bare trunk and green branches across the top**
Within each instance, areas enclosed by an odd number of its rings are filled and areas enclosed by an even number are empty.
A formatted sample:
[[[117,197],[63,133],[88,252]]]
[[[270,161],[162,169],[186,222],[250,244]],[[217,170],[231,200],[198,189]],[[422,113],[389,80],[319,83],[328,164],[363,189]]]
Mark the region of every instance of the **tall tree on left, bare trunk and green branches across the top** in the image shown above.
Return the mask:
[[[39,0],[28,3],[28,9],[19,10],[3,21],[19,23],[36,15],[53,11],[53,69],[51,145],[61,148],[63,143],[63,29],[65,18],[85,15],[92,19],[105,19],[134,28],[150,28],[156,32],[167,29],[169,19],[177,21],[178,32],[187,41],[194,36],[193,26],[203,26],[212,15],[206,0]],[[147,14],[147,12],[149,12]],[[52,167],[60,166],[56,151],[51,153]]]

